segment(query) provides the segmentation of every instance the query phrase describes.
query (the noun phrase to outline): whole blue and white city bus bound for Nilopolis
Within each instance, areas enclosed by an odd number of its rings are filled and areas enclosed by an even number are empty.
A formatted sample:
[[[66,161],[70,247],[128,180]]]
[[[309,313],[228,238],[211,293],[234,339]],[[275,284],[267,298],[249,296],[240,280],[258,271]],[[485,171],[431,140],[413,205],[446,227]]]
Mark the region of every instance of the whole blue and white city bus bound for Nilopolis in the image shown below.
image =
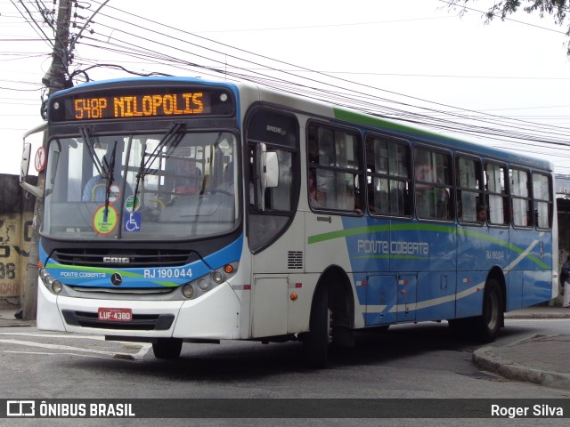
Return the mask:
[[[159,359],[298,340],[325,367],[355,329],[492,341],[558,294],[550,162],[197,78],[78,85],[47,117],[40,329]]]

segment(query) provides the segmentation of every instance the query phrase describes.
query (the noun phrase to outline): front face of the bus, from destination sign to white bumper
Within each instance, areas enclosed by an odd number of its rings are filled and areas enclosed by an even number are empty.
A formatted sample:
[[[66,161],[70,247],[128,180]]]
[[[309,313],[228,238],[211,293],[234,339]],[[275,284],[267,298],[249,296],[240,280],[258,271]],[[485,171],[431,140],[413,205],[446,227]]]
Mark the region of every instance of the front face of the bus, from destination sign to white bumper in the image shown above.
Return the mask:
[[[37,326],[240,338],[248,269],[235,91],[84,86],[48,107]]]

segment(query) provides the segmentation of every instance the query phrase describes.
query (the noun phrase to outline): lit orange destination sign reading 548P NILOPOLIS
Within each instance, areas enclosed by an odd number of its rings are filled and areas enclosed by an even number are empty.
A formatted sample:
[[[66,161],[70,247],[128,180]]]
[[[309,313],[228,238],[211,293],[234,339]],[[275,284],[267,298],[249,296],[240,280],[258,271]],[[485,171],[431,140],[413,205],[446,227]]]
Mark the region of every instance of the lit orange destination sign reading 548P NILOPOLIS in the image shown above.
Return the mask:
[[[230,94],[223,89],[189,90],[145,88],[112,93],[66,93],[50,103],[55,122],[144,117],[227,116],[233,112]]]

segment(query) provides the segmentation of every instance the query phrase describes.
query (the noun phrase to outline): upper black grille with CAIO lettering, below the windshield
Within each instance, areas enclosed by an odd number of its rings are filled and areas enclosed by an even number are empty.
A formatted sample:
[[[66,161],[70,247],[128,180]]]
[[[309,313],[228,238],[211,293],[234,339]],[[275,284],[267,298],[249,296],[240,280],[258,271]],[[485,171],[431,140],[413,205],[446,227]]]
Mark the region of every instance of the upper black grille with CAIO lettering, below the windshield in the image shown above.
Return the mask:
[[[63,265],[89,267],[180,267],[197,261],[198,255],[170,249],[113,251],[108,249],[61,249],[53,251],[53,260]]]

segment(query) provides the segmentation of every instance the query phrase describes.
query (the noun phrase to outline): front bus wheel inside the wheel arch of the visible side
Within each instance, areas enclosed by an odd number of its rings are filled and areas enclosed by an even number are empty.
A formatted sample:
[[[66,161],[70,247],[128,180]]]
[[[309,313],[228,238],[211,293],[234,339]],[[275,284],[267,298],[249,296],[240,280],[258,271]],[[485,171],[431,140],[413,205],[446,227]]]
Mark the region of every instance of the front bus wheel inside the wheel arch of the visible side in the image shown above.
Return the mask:
[[[303,350],[307,367],[324,368],[329,362],[330,309],[329,290],[320,286],[314,294],[309,332],[303,334]]]

